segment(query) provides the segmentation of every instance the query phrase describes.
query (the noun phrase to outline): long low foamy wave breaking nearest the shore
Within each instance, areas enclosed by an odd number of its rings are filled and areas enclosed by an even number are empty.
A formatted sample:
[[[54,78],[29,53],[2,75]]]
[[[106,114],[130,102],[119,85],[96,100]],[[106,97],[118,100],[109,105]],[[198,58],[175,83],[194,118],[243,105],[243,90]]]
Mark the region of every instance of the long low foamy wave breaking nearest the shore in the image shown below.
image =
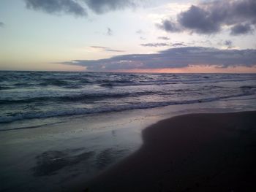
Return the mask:
[[[209,101],[217,101],[219,99],[229,99],[240,96],[249,96],[253,93],[240,93],[236,95],[230,96],[219,96],[219,97],[210,97],[204,99],[192,99],[192,100],[183,100],[183,101],[151,101],[151,102],[142,102],[142,103],[130,103],[124,105],[118,105],[115,107],[100,107],[100,108],[92,108],[92,109],[73,109],[73,110],[65,110],[65,111],[48,111],[48,112],[26,112],[26,113],[18,113],[11,116],[0,117],[0,123],[11,123],[16,120],[26,120],[26,119],[34,119],[34,118],[56,118],[63,116],[71,116],[71,115],[86,115],[86,114],[94,114],[94,113],[102,113],[102,112],[120,112],[125,110],[139,110],[139,109],[148,109],[155,107],[165,107],[168,105],[176,105],[176,104],[195,104],[201,102],[209,102]]]

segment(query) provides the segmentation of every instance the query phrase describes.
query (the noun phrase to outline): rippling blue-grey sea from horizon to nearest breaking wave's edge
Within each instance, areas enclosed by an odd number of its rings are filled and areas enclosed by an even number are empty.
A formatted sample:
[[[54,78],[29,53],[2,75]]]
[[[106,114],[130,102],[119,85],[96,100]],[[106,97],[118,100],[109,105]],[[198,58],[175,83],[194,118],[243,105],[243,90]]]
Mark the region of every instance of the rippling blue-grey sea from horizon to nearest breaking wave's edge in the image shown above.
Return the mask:
[[[255,93],[256,74],[0,72],[0,123],[192,104]]]

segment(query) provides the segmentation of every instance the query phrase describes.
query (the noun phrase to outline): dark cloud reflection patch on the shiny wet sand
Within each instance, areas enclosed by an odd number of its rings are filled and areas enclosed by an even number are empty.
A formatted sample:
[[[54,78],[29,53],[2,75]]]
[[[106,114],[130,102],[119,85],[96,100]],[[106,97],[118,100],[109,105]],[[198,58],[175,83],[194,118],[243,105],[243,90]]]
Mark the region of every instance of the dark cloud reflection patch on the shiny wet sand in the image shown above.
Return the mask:
[[[84,151],[83,147],[66,150],[48,150],[36,156],[36,166],[31,170],[35,177],[57,174],[61,169],[83,164],[88,169],[102,170],[128,153],[127,149],[107,148],[99,151]],[[92,161],[89,161],[92,160]]]

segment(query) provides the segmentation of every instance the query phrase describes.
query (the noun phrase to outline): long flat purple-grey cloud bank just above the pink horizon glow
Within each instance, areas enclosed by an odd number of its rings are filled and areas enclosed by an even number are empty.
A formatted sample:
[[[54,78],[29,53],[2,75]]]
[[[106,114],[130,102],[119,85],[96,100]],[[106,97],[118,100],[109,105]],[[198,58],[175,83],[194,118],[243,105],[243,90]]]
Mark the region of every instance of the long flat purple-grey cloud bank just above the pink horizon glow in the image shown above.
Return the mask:
[[[74,60],[61,64],[86,66],[89,71],[183,68],[187,66],[256,66],[256,50],[219,50],[176,47],[152,54],[117,55],[99,60]]]

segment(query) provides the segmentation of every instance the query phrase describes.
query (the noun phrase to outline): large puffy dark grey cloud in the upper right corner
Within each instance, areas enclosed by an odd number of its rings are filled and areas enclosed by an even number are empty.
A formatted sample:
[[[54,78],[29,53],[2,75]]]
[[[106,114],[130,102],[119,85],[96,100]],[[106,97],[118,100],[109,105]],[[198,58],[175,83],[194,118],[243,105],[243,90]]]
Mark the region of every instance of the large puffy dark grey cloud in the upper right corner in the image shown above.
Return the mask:
[[[232,35],[247,34],[256,25],[255,7],[255,0],[208,1],[192,5],[176,19],[163,19],[157,26],[167,32],[197,34],[217,34],[228,27]]]

